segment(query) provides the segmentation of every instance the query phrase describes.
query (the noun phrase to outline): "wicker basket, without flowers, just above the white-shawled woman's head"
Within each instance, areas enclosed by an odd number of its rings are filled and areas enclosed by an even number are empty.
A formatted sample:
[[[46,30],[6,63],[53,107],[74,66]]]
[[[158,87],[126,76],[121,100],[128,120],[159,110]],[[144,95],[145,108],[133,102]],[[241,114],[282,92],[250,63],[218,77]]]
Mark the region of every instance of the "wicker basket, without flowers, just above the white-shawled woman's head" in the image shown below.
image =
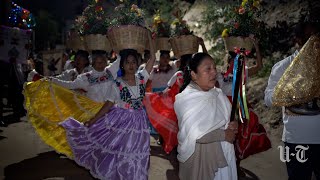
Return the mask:
[[[176,57],[184,54],[193,54],[198,52],[198,37],[193,35],[183,35],[170,38],[170,44]]]

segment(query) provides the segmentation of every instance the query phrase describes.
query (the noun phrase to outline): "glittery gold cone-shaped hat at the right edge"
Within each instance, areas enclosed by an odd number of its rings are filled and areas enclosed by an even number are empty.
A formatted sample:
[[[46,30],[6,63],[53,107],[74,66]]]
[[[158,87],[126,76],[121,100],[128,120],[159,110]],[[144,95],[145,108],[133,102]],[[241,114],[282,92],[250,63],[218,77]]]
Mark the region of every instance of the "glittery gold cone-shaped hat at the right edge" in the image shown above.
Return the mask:
[[[302,47],[275,87],[273,105],[292,106],[320,97],[320,36]]]

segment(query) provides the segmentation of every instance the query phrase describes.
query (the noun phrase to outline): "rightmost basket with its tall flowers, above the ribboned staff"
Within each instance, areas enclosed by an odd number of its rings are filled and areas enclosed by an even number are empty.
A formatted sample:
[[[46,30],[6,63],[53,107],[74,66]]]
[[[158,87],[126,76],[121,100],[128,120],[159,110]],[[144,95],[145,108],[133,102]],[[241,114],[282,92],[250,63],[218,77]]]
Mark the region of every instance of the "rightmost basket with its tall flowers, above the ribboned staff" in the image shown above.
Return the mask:
[[[227,50],[235,47],[251,50],[253,43],[248,38],[257,34],[260,15],[260,0],[243,0],[240,6],[234,7],[226,16],[227,27],[222,32]]]

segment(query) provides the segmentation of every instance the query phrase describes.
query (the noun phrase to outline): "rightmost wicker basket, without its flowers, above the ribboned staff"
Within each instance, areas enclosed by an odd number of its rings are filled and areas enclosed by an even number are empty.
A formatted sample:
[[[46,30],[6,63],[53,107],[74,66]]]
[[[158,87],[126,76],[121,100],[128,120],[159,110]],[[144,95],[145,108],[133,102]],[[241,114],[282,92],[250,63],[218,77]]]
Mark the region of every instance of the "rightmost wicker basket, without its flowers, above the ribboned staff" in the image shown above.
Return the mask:
[[[251,50],[253,47],[253,42],[249,37],[225,37],[224,40],[224,46],[226,50],[228,51],[234,51],[234,48],[245,48],[246,50]]]

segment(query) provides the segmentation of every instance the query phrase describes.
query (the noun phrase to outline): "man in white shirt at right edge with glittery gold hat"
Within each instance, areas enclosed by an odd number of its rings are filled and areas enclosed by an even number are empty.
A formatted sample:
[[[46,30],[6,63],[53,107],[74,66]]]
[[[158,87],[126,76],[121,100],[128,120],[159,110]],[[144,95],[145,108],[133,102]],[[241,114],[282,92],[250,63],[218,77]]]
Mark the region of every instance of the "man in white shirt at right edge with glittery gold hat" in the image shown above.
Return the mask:
[[[267,106],[282,106],[284,146],[278,148],[281,153],[280,160],[286,162],[289,180],[310,180],[312,172],[320,179],[320,110],[314,99],[316,97],[310,97],[309,102],[305,103],[301,99],[295,99],[295,93],[287,91],[291,89],[293,92],[300,92],[297,93],[298,96],[319,91],[315,88],[304,88],[315,83],[319,76],[316,73],[320,72],[320,66],[317,65],[320,63],[320,48],[314,49],[320,44],[319,20],[304,21],[297,27],[297,43],[300,47],[304,46],[300,52],[296,51],[273,66],[264,100]],[[315,68],[318,70],[312,73]],[[298,82],[297,79],[301,81]],[[288,99],[286,97],[291,100],[285,100]],[[306,99],[304,98],[304,101]]]

